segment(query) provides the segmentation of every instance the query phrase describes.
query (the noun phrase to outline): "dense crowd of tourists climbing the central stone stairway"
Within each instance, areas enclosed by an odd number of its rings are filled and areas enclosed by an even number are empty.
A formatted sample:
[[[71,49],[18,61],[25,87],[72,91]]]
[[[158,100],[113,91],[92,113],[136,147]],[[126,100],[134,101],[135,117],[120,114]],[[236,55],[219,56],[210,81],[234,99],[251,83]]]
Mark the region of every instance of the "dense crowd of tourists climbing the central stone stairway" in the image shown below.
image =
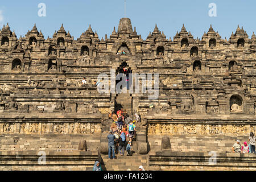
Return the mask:
[[[125,147],[127,151],[127,156],[131,156],[131,146],[133,146],[133,138],[136,136],[136,122],[141,122],[141,118],[137,113],[134,114],[135,120],[133,120],[127,111],[123,108],[117,111],[109,113],[109,118],[112,118],[112,125],[110,126],[110,131],[108,135],[109,141],[109,159],[111,159],[111,153],[113,159],[115,159],[115,154],[121,156],[125,155]],[[127,139],[129,138],[129,140]],[[128,140],[128,141],[127,141]]]

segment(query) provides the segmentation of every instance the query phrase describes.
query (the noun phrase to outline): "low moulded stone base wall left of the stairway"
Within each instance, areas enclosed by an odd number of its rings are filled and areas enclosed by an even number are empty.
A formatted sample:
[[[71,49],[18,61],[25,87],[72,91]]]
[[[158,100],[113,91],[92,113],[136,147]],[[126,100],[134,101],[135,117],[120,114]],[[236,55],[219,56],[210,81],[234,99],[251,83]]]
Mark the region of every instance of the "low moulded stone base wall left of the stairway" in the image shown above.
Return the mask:
[[[45,164],[42,153],[0,151],[2,171],[92,171],[98,152],[46,152]]]

